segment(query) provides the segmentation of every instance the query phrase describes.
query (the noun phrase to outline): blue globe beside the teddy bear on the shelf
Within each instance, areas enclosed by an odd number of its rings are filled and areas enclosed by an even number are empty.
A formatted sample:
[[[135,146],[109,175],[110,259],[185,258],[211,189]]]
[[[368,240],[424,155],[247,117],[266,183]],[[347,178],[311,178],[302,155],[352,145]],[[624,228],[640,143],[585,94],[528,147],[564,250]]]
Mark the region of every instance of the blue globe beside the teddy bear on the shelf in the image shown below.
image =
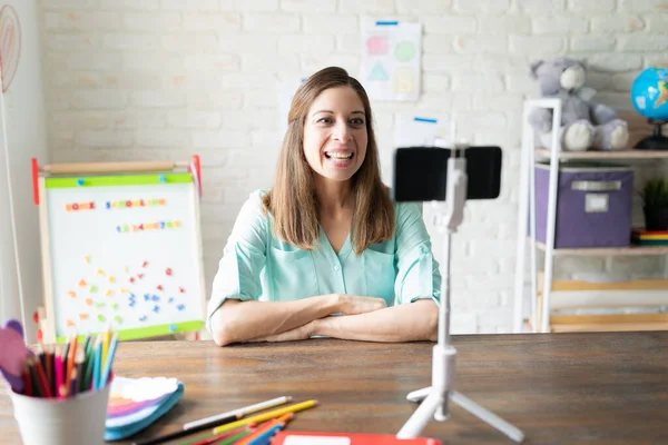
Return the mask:
[[[668,65],[645,69],[631,86],[633,108],[655,121],[668,121]]]

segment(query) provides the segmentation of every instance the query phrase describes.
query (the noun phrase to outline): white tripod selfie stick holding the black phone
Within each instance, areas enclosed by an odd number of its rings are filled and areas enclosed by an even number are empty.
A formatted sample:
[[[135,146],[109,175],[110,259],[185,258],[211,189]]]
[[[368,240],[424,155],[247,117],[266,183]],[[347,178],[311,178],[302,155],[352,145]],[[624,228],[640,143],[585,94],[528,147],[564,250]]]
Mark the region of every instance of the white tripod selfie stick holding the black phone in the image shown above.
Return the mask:
[[[440,144],[436,144],[440,146]],[[517,443],[524,439],[515,426],[503,421],[492,412],[477,405],[463,394],[452,389],[454,377],[454,356],[456,349],[450,344],[450,256],[452,234],[462,222],[466,202],[466,145],[455,145],[448,159],[448,182],[445,192],[445,218],[439,218],[436,228],[443,239],[443,274],[441,281],[441,305],[439,310],[439,337],[433,348],[432,386],[414,390],[407,395],[410,402],[422,402],[409,421],[396,434],[397,438],[418,437],[433,416],[438,422],[450,416],[448,402],[454,402],[469,413],[499,429]]]

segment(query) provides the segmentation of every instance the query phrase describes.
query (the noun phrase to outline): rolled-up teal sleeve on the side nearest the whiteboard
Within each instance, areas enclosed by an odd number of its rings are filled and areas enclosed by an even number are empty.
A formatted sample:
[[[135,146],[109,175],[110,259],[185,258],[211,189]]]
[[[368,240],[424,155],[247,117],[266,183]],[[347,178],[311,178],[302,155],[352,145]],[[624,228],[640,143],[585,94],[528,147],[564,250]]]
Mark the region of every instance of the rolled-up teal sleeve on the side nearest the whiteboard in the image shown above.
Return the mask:
[[[243,205],[223,250],[208,303],[206,327],[210,317],[228,298],[258,299],[262,295],[259,274],[266,263],[267,216],[262,210],[262,192],[255,191]]]

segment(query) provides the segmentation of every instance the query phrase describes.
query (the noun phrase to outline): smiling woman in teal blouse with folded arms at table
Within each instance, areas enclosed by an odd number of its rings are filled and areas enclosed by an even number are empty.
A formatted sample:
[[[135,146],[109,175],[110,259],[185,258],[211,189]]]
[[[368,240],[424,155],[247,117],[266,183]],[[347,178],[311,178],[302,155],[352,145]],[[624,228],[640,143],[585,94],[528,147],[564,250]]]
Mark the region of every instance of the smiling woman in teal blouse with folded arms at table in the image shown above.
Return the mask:
[[[225,247],[214,340],[435,340],[440,283],[421,205],[393,205],[381,181],[364,88],[316,72],[293,99],[273,189],[250,195]]]

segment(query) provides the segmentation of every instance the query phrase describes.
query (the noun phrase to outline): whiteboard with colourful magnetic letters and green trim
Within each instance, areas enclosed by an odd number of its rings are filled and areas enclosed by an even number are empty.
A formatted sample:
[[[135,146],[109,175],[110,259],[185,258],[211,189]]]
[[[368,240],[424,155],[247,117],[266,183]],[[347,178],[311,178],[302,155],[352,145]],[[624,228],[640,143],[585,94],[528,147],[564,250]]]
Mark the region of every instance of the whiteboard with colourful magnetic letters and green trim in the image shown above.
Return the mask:
[[[56,340],[109,324],[119,339],[202,328],[199,209],[190,174],[42,180],[46,309]]]

